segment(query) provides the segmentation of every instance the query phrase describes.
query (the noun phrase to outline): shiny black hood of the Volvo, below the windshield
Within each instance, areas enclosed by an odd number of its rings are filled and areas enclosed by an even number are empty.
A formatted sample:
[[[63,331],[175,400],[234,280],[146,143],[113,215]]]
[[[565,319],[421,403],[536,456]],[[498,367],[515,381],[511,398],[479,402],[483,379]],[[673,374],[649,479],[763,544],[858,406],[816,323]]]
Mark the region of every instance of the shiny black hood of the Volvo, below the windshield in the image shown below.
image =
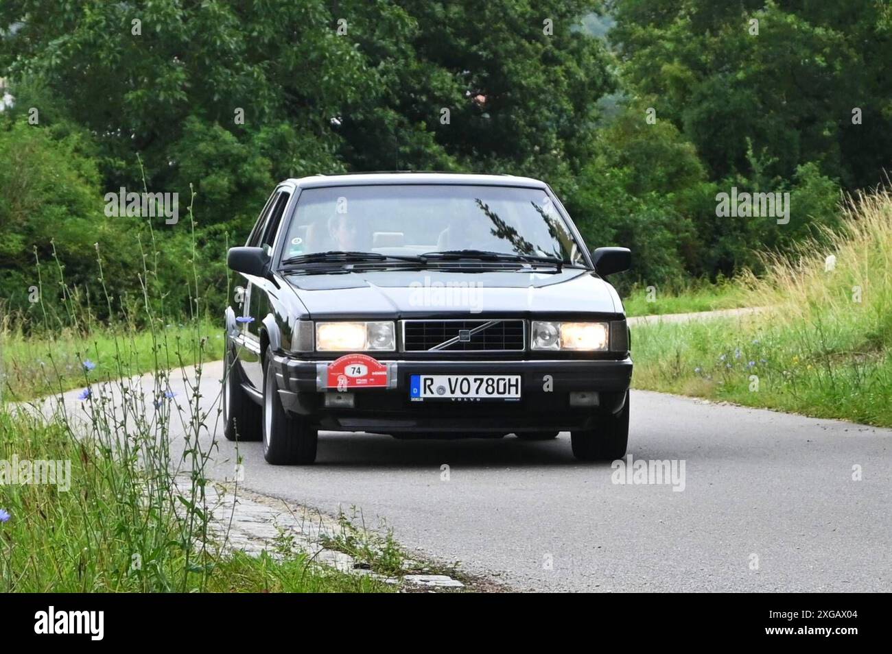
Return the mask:
[[[622,313],[614,288],[589,270],[363,270],[285,274],[310,318],[455,313]]]

